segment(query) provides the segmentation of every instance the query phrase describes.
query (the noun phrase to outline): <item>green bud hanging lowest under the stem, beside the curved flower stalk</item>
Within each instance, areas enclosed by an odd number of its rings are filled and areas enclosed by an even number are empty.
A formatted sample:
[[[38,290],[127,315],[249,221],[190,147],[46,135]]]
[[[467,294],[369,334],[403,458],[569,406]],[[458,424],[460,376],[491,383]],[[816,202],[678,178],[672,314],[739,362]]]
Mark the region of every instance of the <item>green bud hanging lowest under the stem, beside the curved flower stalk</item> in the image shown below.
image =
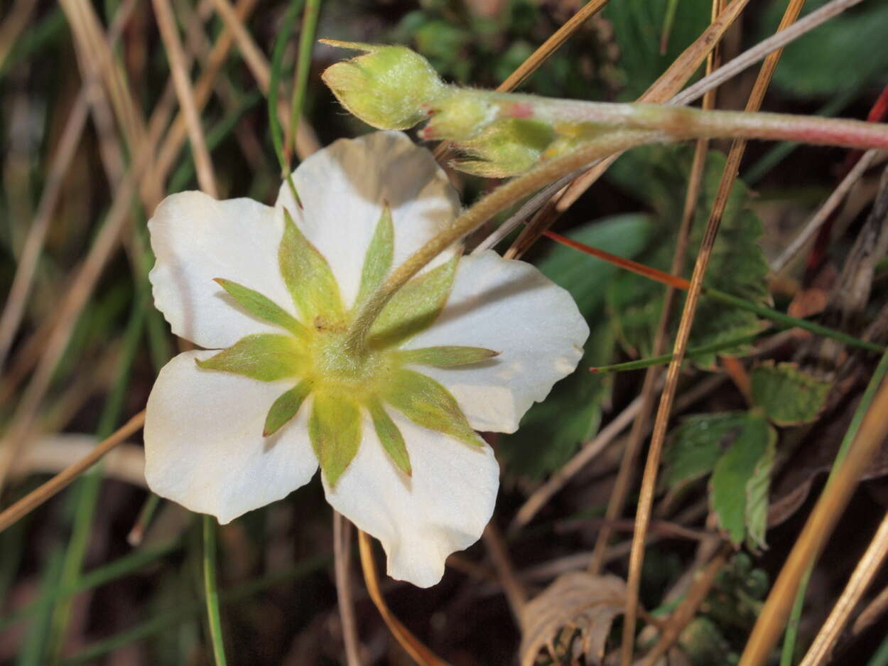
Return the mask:
[[[546,123],[499,120],[479,136],[459,144],[472,159],[456,160],[454,168],[484,178],[509,178],[530,169],[555,138]]]

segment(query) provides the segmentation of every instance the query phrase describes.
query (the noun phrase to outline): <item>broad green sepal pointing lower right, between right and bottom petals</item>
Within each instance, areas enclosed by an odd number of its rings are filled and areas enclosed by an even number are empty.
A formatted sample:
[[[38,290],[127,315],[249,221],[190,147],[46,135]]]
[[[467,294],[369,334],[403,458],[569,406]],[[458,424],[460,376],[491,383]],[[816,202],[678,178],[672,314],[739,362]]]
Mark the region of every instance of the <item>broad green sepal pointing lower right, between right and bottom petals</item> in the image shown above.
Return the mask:
[[[472,446],[483,444],[456,404],[456,398],[432,377],[400,369],[393,373],[382,397],[417,425],[443,432]]]

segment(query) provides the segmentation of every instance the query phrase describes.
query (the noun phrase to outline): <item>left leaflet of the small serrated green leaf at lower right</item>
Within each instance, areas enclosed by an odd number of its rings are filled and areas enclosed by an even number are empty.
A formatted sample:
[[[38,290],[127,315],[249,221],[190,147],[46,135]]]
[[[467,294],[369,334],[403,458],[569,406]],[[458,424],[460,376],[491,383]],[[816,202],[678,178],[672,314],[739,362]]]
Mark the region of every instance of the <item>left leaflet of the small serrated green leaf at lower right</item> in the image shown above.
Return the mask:
[[[748,419],[746,412],[688,416],[672,432],[663,451],[666,467],[663,481],[672,487],[712,472],[722,452],[742,431]]]

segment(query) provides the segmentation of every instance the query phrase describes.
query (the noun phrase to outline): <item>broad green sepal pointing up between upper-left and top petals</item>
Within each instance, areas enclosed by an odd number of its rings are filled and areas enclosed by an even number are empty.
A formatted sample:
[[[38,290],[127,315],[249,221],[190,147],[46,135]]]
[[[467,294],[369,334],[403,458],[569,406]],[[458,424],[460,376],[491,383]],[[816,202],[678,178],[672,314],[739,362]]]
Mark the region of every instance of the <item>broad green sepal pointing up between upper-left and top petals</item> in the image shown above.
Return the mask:
[[[289,211],[284,209],[284,231],[278,262],[293,302],[305,321],[342,321],[345,310],[339,285],[327,259],[299,231]],[[343,239],[345,242],[346,239]]]

